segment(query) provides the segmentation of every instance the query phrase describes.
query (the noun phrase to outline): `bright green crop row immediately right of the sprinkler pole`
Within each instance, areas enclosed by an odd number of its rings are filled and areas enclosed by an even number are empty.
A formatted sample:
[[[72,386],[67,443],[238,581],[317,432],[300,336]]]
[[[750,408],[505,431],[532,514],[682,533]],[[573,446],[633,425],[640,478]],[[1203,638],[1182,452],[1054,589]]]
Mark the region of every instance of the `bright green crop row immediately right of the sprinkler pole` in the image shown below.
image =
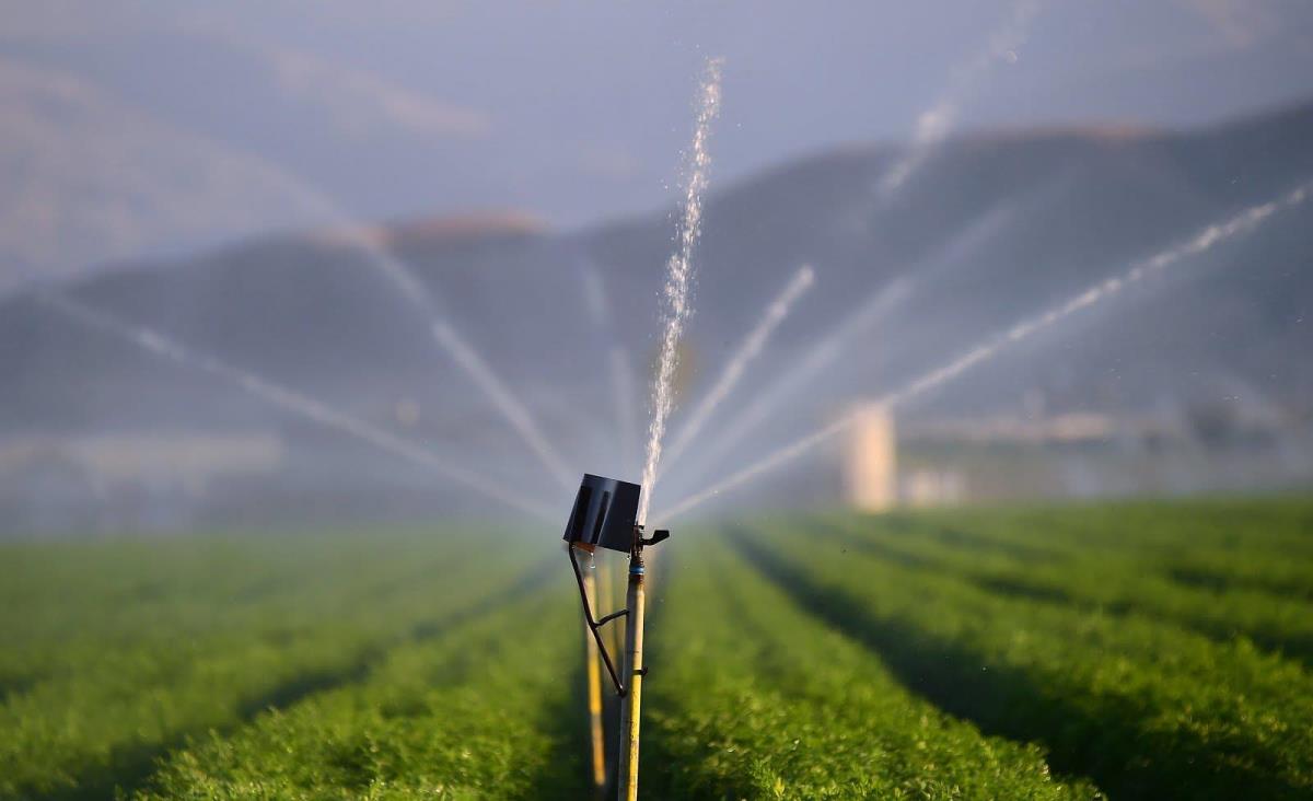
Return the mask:
[[[672,798],[1090,798],[1035,746],[903,689],[716,536],[681,542],[655,609],[643,784]],[[664,569],[664,566],[663,566]]]

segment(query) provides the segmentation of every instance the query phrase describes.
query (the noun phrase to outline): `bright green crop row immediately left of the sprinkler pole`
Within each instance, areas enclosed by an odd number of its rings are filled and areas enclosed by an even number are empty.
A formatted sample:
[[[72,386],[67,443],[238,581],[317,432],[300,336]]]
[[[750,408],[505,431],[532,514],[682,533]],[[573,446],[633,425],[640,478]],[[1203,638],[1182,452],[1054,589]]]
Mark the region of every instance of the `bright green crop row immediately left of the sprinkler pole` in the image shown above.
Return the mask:
[[[574,605],[554,583],[403,643],[360,682],[192,741],[137,797],[580,797]]]

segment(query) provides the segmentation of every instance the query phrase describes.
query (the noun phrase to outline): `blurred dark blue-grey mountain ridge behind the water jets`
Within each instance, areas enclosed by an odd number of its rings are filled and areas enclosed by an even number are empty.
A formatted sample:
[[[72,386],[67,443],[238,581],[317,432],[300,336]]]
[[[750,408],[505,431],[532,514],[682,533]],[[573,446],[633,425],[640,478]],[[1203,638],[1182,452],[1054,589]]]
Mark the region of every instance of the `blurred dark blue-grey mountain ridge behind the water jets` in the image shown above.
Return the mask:
[[[847,343],[840,364],[810,381],[750,449],[897,387],[1132,261],[1313,179],[1313,106],[1187,133],[964,137],[881,197],[880,179],[903,155],[892,147],[821,152],[709,198],[689,331],[691,397],[714,379],[801,264],[815,268],[814,290],[729,407],[769,386],[873,293],[895,281],[902,288],[889,311]],[[979,365],[905,415],[1020,410],[1037,393],[1057,411],[1142,414],[1233,399],[1306,414],[1310,222],[1313,205],[1279,214]],[[542,487],[532,457],[437,348],[427,313],[379,269],[378,255],[421,278],[439,313],[567,458],[580,469],[620,470],[628,466],[617,464],[608,340],[624,344],[642,382],[672,234],[664,213],[574,234],[517,215],[420,221],[121,265],[60,289],[500,479]],[[361,242],[372,243],[373,256]],[[600,306],[590,303],[590,271],[604,290]],[[234,386],[59,316],[32,294],[0,305],[0,374],[5,432],[276,425],[294,440],[360,452],[349,456],[356,467],[402,471],[386,457],[365,456],[365,446],[310,433],[314,427]],[[633,404],[645,420],[642,398]],[[400,406],[411,414],[399,415]],[[722,420],[730,416],[726,410]]]

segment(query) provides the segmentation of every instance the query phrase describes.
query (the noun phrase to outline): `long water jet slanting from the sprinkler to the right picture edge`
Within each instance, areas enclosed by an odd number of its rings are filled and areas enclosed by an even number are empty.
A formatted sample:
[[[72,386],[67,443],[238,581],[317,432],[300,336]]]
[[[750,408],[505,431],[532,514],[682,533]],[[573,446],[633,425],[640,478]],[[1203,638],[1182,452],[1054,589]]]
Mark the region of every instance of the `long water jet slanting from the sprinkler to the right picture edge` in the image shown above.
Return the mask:
[[[1183,259],[1197,256],[1221,242],[1253,231],[1274,214],[1304,204],[1310,192],[1313,192],[1313,181],[1300,184],[1297,188],[1287,192],[1278,200],[1250,206],[1228,218],[1225,222],[1211,225],[1184,243],[1167,248],[1142,261],[1137,261],[1125,272],[1095,284],[1067,302],[1061,303],[1035,318],[1023,320],[990,341],[979,344],[951,362],[924,373],[902,389],[881,397],[874,402],[874,406],[893,408],[918,395],[936,389],[943,383],[957,378],[973,366],[997,357],[1010,345],[1029,339],[1035,334],[1049,328],[1060,320],[1064,320],[1067,316],[1098,303],[1099,301],[1116,295],[1125,288],[1144,281],[1145,278],[1173,267]],[[664,511],[662,517],[670,519],[676,515],[681,515],[688,509],[716,498],[721,492],[733,490],[765,475],[776,467],[806,454],[813,448],[844,432],[848,427],[855,424],[857,419],[859,416],[856,414],[839,418],[834,423],[830,423],[829,425],[769,453],[747,467],[743,467],[725,481],[680,500],[670,509]]]

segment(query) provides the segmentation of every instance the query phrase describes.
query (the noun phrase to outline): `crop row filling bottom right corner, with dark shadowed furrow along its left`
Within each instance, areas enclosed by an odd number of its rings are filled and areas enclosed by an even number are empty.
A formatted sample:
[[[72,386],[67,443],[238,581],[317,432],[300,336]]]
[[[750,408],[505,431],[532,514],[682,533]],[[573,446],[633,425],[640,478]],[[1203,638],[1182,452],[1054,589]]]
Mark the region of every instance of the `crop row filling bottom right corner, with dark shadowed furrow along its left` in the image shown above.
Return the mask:
[[[764,528],[734,538],[797,603],[941,708],[1044,743],[1113,797],[1313,790],[1313,680],[1297,664],[1169,622],[999,595],[818,541],[806,521]]]

